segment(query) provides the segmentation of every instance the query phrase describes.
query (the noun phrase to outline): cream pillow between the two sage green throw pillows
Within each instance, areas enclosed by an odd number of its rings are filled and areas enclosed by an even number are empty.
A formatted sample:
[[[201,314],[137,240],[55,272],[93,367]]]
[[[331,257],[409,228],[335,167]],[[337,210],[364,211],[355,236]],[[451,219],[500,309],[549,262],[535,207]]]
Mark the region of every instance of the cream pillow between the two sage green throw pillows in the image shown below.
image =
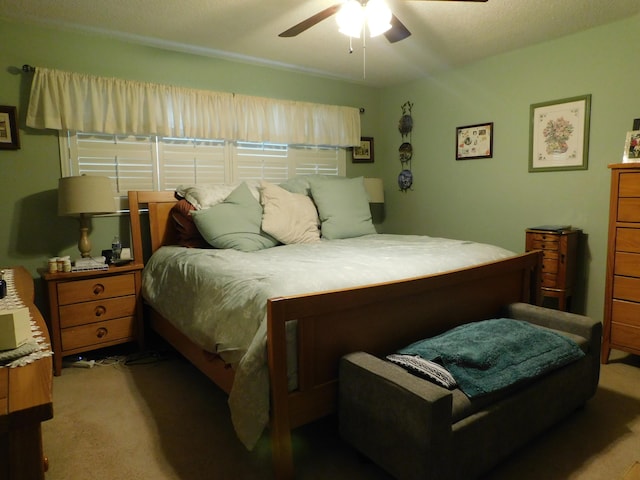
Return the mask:
[[[285,244],[320,241],[318,212],[309,197],[265,181],[260,186],[265,233]]]

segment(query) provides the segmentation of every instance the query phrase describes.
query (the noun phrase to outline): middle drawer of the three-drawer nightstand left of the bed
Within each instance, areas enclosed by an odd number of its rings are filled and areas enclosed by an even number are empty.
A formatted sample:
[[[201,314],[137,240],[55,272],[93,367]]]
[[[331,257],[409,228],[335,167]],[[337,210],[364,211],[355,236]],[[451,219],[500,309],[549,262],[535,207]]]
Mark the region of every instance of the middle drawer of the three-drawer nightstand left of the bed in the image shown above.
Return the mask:
[[[136,297],[105,298],[92,302],[75,303],[60,307],[62,328],[102,322],[112,318],[130,317],[136,314]]]

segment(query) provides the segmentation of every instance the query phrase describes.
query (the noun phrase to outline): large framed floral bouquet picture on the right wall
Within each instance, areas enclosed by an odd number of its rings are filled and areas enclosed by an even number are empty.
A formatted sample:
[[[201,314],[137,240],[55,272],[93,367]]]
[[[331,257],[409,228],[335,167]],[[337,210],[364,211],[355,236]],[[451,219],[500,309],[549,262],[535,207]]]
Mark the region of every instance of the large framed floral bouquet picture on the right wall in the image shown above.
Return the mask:
[[[591,95],[530,108],[529,171],[586,170]]]

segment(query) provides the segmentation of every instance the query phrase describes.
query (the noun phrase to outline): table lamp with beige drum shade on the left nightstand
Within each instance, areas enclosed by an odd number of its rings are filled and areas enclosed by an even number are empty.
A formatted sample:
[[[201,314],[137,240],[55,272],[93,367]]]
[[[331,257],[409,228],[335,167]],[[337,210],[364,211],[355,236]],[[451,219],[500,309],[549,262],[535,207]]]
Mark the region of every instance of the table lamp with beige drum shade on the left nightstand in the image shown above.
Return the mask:
[[[89,217],[115,211],[109,177],[81,175],[58,180],[58,215],[80,218],[78,249],[82,257],[91,256]]]

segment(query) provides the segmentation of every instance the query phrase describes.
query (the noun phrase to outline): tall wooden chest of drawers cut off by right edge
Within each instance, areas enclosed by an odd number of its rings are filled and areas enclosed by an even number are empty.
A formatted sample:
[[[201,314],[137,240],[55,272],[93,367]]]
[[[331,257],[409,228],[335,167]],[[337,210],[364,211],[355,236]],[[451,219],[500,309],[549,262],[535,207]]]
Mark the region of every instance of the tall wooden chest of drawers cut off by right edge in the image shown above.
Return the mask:
[[[640,164],[611,168],[602,363],[612,348],[640,355]]]

